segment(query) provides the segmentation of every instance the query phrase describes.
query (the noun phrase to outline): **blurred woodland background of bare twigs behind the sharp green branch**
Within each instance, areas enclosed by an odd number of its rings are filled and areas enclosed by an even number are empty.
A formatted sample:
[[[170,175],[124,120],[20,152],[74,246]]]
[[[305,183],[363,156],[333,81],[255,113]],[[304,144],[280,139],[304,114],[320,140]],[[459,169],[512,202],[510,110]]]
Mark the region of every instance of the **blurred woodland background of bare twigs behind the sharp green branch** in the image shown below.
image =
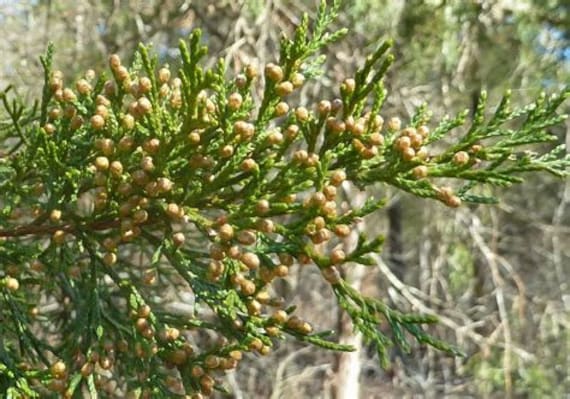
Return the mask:
[[[569,0],[344,3],[331,29],[350,32],[326,50],[321,79],[303,89],[309,104],[338,95],[339,82],[388,37],[396,63],[386,79],[385,118],[407,121],[427,102],[438,121],[473,109],[482,90],[491,105],[508,88],[513,103],[524,104],[570,82]],[[203,30],[210,61],[225,58],[233,74],[277,60],[279,36],[316,8],[315,0],[0,0],[0,88],[12,83],[38,98],[38,57],[48,41],[56,44],[57,68],[75,79],[103,70],[110,53],[132,59],[139,42],[175,66],[178,41],[195,28]],[[570,112],[570,103],[563,107]],[[554,133],[570,145],[570,122]],[[410,354],[394,350],[390,368],[381,369],[366,342],[351,337],[319,272],[303,268],[278,289],[317,328],[362,349],[347,355],[282,344],[271,356],[242,362],[228,375],[232,395],[220,397],[568,397],[570,180],[542,174],[493,190],[498,206],[458,210],[389,187],[344,193],[352,204],[365,195],[387,199],[362,226],[386,235],[378,267],[347,268],[346,277],[393,306],[440,315],[431,332],[466,358],[415,346]]]

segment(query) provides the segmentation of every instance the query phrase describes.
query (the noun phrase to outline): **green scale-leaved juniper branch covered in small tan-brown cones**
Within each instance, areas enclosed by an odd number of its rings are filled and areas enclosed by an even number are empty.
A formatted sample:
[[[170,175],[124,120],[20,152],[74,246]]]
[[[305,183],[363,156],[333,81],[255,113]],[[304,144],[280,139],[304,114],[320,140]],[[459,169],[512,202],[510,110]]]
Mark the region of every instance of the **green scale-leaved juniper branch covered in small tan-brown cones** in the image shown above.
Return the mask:
[[[314,23],[305,16],[264,79],[253,66],[232,78],[222,61],[203,68],[196,31],[180,43],[177,74],[141,46],[130,68],[112,56],[110,75],[89,72],[72,90],[50,46],[41,102],[1,93],[7,397],[104,394],[101,379],[142,397],[200,397],[224,390],[220,371],[242,352],[268,354],[287,336],[353,350],[334,332],[313,332],[272,291],[297,265],[321,270],[383,365],[387,348],[409,351],[410,338],[460,355],[425,330],[436,317],[392,309],[343,279],[343,268],[374,266],[382,237],[355,237],[349,253],[339,244],[384,201],[347,211],[337,188],[384,183],[457,207],[495,202],[479,188],[519,183],[521,172],[564,176],[563,147],[538,154],[529,145],[555,141],[548,128],[565,118],[556,110],[570,91],[516,109],[507,94],[490,115],[483,94],[471,122],[464,112],[434,123],[427,106],[407,123],[385,121],[388,41],[338,98],[294,104],[288,98],[318,76],[318,51],[346,33],[327,31],[338,9],[322,2]],[[193,310],[156,299],[168,290],[190,291]]]

